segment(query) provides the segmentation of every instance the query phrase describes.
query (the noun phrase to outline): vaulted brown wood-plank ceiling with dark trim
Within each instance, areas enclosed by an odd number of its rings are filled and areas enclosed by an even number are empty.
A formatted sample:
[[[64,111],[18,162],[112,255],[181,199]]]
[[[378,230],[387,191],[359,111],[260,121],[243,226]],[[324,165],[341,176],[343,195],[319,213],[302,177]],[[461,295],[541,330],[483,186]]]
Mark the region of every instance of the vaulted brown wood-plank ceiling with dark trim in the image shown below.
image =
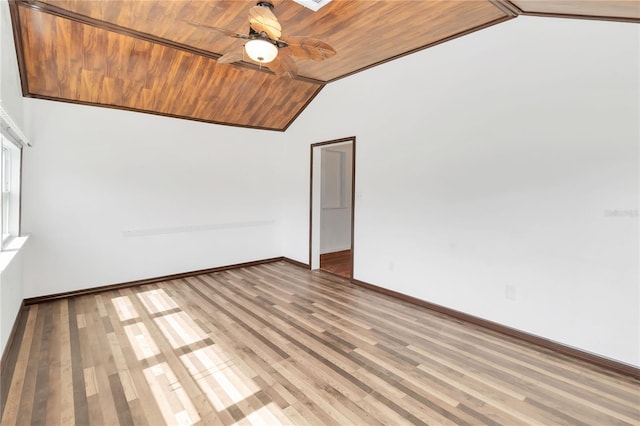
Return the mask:
[[[248,58],[219,63],[244,40],[193,24],[247,34],[256,0],[10,0],[23,94],[286,130],[325,84],[521,14],[640,23],[637,0],[272,3],[283,39],[319,38],[336,55],[296,60],[294,79]]]

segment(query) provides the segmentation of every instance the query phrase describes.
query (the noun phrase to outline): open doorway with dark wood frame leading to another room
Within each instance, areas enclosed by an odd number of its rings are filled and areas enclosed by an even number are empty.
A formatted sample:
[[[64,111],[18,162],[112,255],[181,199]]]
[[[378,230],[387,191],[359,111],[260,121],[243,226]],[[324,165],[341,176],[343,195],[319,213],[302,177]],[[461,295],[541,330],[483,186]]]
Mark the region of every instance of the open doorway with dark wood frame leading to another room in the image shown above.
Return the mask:
[[[353,277],[356,138],[311,145],[309,265]]]

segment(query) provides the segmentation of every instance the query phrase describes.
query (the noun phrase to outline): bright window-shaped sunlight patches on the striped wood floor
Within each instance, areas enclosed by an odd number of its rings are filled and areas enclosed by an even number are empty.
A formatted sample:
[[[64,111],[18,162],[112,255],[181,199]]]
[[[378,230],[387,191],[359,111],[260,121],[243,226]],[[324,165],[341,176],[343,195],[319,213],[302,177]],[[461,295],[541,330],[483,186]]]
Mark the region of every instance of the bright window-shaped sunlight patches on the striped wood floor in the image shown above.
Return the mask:
[[[154,289],[137,296],[152,316],[165,313],[153,318],[155,325],[174,350],[186,352],[180,355],[180,360],[218,412],[236,405],[246,415],[239,424],[279,425],[286,421],[287,417],[280,407],[274,403],[264,406],[254,396],[261,390],[252,379],[255,373],[244,364],[244,369],[241,368],[220,345],[188,348],[208,339],[209,335],[186,312],[180,310],[164,290]],[[112,303],[122,321],[139,317],[130,298],[116,297]],[[178,312],[167,313],[174,309]],[[138,360],[161,353],[143,322],[126,325],[124,329]],[[163,352],[168,350],[165,342],[161,342],[160,346],[164,348]],[[250,374],[246,372],[247,368]],[[201,420],[182,383],[166,362],[154,363],[143,372],[166,424],[190,425]],[[247,401],[248,398],[251,400]]]

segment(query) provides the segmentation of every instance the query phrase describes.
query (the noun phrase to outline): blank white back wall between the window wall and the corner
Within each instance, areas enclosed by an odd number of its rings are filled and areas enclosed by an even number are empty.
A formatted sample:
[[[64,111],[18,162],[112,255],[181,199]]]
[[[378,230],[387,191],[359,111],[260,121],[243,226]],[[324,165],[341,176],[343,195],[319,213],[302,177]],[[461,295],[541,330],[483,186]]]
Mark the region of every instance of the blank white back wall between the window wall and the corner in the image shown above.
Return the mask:
[[[281,133],[25,102],[25,298],[282,255]]]

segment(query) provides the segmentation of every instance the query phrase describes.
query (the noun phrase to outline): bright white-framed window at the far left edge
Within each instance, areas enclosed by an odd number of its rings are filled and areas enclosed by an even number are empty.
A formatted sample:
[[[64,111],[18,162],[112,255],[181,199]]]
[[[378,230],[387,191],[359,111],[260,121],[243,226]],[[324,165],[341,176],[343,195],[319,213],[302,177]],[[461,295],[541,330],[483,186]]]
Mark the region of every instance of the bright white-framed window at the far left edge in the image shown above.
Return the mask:
[[[2,139],[0,187],[2,189],[2,243],[20,234],[20,158],[22,149]]]

